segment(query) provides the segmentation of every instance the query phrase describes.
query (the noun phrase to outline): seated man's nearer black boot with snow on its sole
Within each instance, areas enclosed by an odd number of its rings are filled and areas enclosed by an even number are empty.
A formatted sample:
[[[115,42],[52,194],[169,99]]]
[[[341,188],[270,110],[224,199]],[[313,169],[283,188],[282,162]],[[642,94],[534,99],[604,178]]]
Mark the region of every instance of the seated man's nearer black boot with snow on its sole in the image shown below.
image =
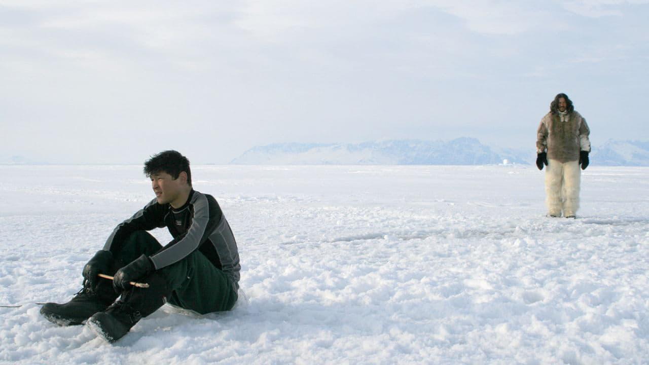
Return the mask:
[[[149,288],[132,286],[122,292],[122,297],[103,312],[95,313],[88,320],[88,327],[98,336],[113,343],[129,333],[141,318],[149,316],[165,303],[169,294],[164,279],[153,273],[143,279]]]

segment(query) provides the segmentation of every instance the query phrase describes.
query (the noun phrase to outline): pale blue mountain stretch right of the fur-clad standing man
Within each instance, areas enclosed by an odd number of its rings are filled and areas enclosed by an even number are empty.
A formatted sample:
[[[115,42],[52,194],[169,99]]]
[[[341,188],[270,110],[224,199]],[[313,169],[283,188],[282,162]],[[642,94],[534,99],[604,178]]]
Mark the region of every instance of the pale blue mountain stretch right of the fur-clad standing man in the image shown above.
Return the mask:
[[[649,142],[607,140],[593,146],[591,164],[600,166],[649,166]]]

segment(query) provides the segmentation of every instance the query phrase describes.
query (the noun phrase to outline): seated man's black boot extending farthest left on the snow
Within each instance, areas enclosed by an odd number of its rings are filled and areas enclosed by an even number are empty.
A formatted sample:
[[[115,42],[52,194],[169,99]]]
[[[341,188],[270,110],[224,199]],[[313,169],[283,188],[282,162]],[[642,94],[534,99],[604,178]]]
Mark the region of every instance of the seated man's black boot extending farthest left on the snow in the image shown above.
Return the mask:
[[[69,302],[45,303],[40,312],[48,321],[57,325],[80,325],[93,314],[105,310],[117,296],[109,280],[100,282],[95,290],[90,288],[88,281],[84,281],[83,288]]]

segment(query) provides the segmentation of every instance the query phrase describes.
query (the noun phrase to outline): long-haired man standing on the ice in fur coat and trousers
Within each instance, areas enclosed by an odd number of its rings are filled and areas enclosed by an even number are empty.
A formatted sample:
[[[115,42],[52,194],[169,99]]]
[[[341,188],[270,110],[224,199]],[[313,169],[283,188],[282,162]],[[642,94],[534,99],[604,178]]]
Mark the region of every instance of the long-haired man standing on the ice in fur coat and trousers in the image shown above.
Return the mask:
[[[566,94],[557,94],[550,112],[539,124],[536,136],[536,166],[545,164],[545,193],[548,216],[575,218],[579,208],[582,171],[589,164],[591,142],[586,120],[572,106]]]

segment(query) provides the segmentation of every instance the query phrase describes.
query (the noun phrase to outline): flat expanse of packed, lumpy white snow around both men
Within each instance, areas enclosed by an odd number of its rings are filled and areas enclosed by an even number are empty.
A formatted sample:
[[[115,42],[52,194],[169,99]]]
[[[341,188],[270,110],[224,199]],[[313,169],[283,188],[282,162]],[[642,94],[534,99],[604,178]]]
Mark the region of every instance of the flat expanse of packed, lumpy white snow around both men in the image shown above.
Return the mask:
[[[649,168],[591,166],[577,220],[530,166],[193,166],[241,256],[231,312],[116,344],[40,316],[153,198],[141,166],[0,166],[6,364],[647,364]],[[164,230],[154,235],[166,242]]]

